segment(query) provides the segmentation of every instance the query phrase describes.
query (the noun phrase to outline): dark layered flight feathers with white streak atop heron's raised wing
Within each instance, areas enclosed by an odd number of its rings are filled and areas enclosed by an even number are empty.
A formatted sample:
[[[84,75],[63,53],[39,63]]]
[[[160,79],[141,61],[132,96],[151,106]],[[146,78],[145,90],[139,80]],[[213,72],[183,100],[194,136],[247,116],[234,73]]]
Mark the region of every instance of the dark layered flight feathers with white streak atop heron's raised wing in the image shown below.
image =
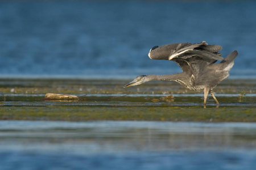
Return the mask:
[[[221,50],[220,45],[208,45],[202,41],[199,44],[191,44],[187,46],[177,45],[175,49],[170,51],[169,60],[174,58],[186,59],[193,56],[198,56],[205,59],[223,60],[217,52]]]

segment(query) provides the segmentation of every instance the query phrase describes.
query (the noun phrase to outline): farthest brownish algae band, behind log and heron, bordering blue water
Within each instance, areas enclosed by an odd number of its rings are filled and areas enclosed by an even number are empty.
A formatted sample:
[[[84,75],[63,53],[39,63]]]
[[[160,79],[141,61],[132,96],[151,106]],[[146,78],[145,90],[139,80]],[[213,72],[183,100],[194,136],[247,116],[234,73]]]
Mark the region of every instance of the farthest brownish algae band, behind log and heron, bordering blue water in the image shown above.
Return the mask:
[[[15,94],[201,94],[203,91],[189,91],[176,82],[148,82],[137,88],[123,88],[123,80],[93,80],[93,79],[0,79],[0,92],[10,94],[15,89]],[[256,80],[226,79],[222,81],[214,92],[216,94],[237,94],[244,90],[246,94],[256,94]]]

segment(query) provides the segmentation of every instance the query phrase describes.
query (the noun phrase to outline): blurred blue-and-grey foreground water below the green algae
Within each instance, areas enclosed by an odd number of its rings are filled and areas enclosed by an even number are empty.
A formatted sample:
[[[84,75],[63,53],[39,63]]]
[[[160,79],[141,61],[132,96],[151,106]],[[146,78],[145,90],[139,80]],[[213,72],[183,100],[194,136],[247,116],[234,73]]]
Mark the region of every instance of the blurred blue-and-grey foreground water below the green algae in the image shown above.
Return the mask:
[[[256,124],[0,121],[1,169],[253,169]]]

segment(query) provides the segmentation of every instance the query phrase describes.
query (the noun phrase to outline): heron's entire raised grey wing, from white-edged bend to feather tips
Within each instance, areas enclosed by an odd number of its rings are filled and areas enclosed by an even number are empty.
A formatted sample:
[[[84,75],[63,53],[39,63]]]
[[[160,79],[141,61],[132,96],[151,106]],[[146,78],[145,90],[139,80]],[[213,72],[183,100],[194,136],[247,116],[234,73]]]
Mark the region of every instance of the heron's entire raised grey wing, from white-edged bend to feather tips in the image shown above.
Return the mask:
[[[221,53],[218,53],[221,49],[222,46],[208,45],[205,41],[198,44],[185,42],[159,46],[158,48],[152,49],[152,51],[150,50],[148,57],[151,59],[174,61],[184,72],[192,75],[193,72],[197,72],[202,68],[202,64],[208,65],[217,60],[223,60],[224,58],[221,57]],[[200,68],[197,68],[197,66],[200,66]]]

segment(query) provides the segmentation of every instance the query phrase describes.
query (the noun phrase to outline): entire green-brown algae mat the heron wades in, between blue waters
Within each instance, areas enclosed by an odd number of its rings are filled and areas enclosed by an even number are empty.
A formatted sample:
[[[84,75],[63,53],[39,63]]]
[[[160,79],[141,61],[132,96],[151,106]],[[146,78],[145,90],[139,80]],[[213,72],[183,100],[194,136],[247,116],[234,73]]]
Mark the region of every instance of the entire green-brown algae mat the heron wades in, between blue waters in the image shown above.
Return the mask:
[[[203,91],[175,82],[122,88],[129,79],[0,79],[1,120],[137,120],[256,122],[256,80],[227,79],[215,89],[220,106]],[[47,100],[47,93],[76,95]]]

